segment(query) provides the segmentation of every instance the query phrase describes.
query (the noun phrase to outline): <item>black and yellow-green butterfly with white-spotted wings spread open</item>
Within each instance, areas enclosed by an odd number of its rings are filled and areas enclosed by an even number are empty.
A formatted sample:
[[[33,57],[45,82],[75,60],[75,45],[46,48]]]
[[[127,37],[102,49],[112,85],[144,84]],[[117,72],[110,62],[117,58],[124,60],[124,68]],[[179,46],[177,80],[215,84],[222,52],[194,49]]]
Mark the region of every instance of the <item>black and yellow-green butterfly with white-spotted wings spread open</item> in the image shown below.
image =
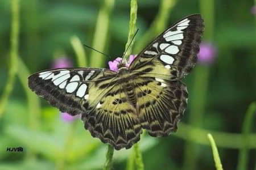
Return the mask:
[[[177,130],[188,100],[181,79],[196,64],[203,31],[201,15],[193,14],[162,32],[129,67],[44,70],[32,74],[28,86],[61,112],[81,114],[93,137],[127,149],[142,129],[153,137]]]

